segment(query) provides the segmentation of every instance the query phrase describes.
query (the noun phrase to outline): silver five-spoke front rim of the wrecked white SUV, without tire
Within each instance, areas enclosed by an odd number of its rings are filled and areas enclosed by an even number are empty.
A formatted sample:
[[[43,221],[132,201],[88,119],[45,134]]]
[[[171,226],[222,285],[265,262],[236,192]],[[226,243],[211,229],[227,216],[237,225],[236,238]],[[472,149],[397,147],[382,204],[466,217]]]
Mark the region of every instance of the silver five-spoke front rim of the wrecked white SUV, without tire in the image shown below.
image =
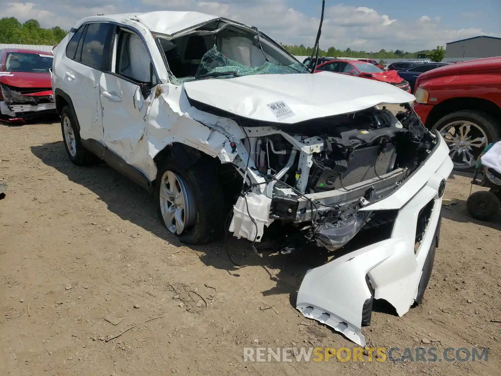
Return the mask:
[[[165,226],[172,234],[181,233],[195,222],[193,195],[184,179],[165,171],[160,181],[160,210]]]

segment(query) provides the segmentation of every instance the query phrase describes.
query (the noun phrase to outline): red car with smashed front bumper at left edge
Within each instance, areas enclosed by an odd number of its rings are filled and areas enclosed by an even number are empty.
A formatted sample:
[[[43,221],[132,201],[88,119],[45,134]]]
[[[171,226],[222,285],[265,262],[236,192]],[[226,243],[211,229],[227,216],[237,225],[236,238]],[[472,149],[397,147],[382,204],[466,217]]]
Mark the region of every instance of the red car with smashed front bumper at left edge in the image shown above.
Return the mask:
[[[56,112],[49,71],[53,60],[46,51],[0,50],[0,120],[24,121]]]

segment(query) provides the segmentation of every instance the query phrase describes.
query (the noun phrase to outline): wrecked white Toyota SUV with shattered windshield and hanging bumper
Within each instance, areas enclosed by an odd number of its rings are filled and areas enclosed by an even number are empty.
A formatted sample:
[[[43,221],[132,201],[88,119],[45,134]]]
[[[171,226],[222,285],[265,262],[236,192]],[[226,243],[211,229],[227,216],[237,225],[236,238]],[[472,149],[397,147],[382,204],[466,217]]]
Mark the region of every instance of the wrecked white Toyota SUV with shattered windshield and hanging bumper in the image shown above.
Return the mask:
[[[69,158],[102,159],[155,192],[182,242],[229,231],[283,253],[333,251],[297,308],[359,344],[374,299],[399,315],[422,300],[452,162],[413,95],[311,74],[256,28],[194,12],[86,18],[54,54]],[[381,236],[340,249],[370,228]]]

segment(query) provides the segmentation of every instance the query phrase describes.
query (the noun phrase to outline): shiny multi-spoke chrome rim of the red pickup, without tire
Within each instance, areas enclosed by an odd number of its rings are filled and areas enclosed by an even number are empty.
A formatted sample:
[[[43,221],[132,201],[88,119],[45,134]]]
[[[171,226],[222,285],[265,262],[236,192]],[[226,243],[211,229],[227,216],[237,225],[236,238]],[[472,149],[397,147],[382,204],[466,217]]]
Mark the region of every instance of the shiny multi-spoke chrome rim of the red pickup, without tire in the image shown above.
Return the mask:
[[[487,144],[487,135],[483,129],[471,121],[448,123],[440,129],[440,134],[449,146],[449,156],[455,168],[467,169],[474,166]]]

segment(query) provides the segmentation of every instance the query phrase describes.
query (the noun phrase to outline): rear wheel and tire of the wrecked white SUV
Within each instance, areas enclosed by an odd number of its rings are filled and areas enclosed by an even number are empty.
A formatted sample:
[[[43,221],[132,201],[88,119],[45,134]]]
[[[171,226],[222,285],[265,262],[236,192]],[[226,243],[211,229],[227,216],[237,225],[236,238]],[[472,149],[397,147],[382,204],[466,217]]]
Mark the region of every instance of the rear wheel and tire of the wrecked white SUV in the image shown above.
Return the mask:
[[[61,111],[61,131],[66,153],[77,166],[95,164],[99,158],[82,145],[80,132],[76,124],[70,106],[65,106]]]

